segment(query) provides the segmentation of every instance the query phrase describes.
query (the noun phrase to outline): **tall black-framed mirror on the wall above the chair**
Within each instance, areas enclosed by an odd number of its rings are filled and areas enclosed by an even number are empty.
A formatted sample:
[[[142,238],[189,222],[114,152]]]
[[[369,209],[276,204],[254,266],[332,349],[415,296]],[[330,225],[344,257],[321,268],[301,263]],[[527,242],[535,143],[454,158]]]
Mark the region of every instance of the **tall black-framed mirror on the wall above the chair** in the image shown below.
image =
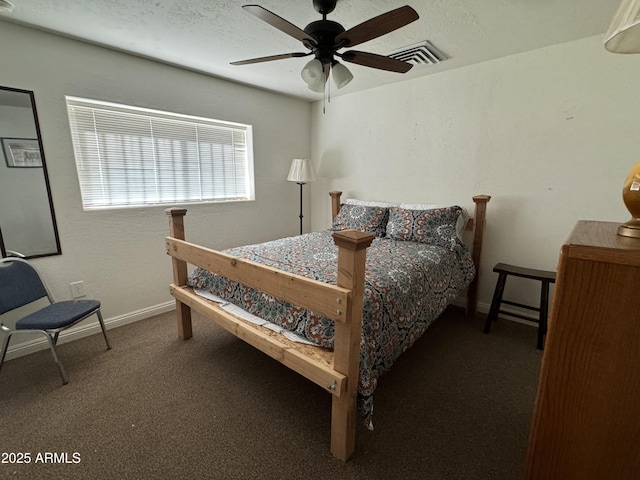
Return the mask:
[[[0,87],[0,251],[60,255],[33,92]]]

